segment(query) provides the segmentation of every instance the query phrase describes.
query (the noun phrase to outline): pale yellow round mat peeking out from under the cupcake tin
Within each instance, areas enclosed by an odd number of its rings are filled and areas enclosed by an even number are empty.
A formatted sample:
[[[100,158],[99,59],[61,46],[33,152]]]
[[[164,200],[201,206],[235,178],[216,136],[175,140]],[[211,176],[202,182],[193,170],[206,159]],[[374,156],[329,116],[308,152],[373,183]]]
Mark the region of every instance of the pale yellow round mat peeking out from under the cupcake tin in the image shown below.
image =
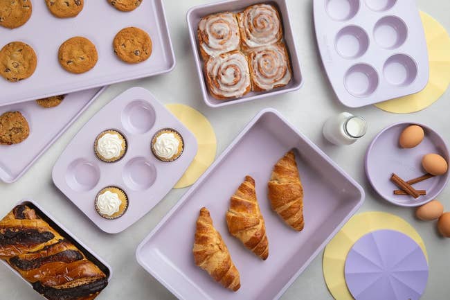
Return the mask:
[[[194,134],[199,145],[197,155],[195,155],[188,170],[186,170],[183,177],[174,186],[174,188],[186,188],[186,186],[194,184],[206,169],[213,164],[217,150],[217,140],[215,139],[213,126],[211,126],[206,116],[199,111],[183,104],[168,104],[165,107],[183,125],[188,127],[188,130]]]

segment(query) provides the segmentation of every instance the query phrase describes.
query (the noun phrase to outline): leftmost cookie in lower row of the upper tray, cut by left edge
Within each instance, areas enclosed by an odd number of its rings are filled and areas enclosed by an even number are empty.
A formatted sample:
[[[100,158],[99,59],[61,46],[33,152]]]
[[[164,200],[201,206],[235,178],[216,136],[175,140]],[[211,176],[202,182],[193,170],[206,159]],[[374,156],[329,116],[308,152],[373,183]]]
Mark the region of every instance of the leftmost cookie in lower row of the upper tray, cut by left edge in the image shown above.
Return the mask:
[[[36,65],[36,53],[25,43],[11,42],[0,50],[0,75],[6,80],[26,79],[35,73]]]

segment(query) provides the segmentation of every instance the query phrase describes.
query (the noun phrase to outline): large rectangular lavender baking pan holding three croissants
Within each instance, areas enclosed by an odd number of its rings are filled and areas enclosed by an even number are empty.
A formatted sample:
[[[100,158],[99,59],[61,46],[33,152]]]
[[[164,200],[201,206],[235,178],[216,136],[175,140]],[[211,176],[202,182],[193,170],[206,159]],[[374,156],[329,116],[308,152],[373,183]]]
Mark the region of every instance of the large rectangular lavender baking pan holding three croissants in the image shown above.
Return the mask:
[[[273,165],[294,148],[305,191],[305,229],[290,229],[267,198]],[[245,175],[256,193],[269,238],[269,258],[261,261],[226,227],[230,197]],[[136,250],[147,272],[179,299],[278,299],[363,203],[364,191],[312,141],[274,109],[264,109],[247,125]],[[197,267],[192,256],[195,222],[210,210],[240,272],[241,288],[231,292]]]

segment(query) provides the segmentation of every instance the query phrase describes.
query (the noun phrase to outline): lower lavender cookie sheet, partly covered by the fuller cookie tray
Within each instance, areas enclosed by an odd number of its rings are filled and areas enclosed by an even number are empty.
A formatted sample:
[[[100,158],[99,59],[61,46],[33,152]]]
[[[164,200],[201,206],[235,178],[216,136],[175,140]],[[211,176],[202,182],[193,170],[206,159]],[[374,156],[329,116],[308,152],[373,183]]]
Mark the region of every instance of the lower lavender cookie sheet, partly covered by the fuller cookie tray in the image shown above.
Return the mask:
[[[24,175],[104,89],[66,95],[60,105],[51,108],[41,107],[35,101],[0,106],[0,115],[19,111],[30,126],[30,135],[25,141],[16,145],[0,145],[0,180],[9,184]]]

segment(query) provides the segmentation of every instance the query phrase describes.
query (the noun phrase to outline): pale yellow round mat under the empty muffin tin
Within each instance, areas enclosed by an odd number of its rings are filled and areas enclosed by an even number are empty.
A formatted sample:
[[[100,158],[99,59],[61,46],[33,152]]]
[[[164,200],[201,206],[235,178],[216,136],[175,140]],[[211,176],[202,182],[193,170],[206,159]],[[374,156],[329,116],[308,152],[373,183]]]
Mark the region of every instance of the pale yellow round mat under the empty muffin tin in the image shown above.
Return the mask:
[[[397,114],[409,114],[429,107],[447,90],[450,82],[450,37],[445,28],[433,17],[420,12],[428,46],[429,82],[417,94],[375,104],[379,109]]]

